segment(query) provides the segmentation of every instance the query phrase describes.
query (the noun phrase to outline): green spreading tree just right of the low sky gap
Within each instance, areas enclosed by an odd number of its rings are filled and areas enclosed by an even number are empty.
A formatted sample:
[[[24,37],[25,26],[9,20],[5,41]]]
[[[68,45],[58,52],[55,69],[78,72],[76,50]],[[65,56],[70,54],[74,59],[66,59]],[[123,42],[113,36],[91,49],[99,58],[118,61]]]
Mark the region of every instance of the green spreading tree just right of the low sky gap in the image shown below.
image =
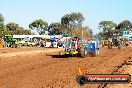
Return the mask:
[[[113,21],[101,21],[99,23],[99,29],[102,30],[102,37],[109,38],[113,35],[113,30],[116,27],[116,23]]]

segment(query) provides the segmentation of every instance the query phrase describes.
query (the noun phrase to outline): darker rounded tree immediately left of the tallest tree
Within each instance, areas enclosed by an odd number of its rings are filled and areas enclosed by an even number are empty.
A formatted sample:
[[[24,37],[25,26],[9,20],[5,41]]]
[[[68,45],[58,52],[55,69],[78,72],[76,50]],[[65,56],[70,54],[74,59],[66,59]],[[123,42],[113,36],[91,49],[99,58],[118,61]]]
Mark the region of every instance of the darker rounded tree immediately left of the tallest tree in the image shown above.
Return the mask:
[[[53,34],[56,34],[56,35],[63,34],[63,26],[62,26],[62,24],[59,23],[59,22],[51,23],[49,25],[49,33],[51,35],[53,35]]]

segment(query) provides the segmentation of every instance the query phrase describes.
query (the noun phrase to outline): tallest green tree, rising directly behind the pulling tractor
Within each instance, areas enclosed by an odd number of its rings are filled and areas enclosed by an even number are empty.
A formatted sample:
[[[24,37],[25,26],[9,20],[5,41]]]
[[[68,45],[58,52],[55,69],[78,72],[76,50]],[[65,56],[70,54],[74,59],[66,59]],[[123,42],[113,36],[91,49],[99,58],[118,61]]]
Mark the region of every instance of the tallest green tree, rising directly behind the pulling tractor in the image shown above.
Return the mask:
[[[65,29],[65,33],[71,35],[72,31],[75,30],[79,25],[82,25],[84,17],[80,12],[72,12],[66,14],[61,18],[61,24]]]

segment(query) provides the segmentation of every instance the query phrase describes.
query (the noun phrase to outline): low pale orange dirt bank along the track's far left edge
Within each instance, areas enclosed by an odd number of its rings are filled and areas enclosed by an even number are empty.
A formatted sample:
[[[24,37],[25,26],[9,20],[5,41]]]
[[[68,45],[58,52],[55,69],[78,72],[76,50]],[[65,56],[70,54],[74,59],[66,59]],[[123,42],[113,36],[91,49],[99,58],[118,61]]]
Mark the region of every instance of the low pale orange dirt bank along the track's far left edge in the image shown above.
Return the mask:
[[[12,51],[12,52],[11,52]],[[48,49],[48,48],[22,48],[22,49],[12,49],[12,48],[7,48],[1,50],[0,57],[14,57],[17,55],[32,55],[32,54],[48,54],[52,52],[59,52],[63,51],[61,48],[55,48],[55,49]]]

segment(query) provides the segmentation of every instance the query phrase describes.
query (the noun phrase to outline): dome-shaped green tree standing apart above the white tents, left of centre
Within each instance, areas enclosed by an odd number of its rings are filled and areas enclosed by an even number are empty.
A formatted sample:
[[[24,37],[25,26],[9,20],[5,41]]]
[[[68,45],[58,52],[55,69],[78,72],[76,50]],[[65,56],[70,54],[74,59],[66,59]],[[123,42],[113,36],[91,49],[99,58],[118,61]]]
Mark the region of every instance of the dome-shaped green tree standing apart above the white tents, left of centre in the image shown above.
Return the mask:
[[[37,30],[39,34],[43,34],[45,31],[47,31],[48,23],[42,19],[35,20],[29,24],[29,28],[32,30]]]

